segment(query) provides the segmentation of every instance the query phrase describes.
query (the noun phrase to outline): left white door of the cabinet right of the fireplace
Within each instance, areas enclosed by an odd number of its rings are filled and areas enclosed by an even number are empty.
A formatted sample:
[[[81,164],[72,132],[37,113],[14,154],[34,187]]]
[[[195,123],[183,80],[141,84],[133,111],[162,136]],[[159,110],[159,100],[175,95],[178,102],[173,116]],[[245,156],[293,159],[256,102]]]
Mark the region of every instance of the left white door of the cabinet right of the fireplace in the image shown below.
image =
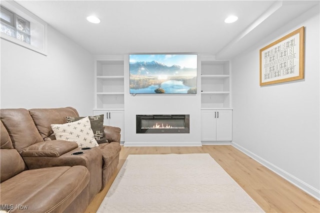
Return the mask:
[[[201,140],[216,140],[215,110],[201,110]]]

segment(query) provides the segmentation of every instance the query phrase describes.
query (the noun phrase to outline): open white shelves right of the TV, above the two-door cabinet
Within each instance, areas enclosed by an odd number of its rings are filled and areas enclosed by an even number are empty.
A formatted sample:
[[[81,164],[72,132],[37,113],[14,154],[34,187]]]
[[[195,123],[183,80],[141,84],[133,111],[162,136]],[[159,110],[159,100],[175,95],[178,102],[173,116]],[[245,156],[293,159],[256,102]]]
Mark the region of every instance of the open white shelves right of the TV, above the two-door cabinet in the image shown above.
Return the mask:
[[[229,60],[201,60],[201,109],[231,107]]]

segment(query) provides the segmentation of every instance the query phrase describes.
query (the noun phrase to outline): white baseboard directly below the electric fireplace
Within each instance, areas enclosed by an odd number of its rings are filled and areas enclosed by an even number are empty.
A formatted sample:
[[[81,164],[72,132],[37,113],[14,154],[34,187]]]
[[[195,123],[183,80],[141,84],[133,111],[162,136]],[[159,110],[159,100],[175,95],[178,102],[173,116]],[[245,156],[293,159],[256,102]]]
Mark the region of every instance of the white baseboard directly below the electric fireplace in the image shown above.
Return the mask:
[[[125,141],[124,146],[202,146],[200,141],[196,142],[129,142]]]

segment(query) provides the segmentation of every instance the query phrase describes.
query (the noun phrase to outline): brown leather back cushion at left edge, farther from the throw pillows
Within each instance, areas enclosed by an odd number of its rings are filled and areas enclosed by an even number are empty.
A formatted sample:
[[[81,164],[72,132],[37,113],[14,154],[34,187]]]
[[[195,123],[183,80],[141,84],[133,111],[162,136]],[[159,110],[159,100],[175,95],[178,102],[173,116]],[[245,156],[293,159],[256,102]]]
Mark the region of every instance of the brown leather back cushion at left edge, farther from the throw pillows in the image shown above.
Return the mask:
[[[27,109],[0,109],[0,119],[18,152],[43,141]]]

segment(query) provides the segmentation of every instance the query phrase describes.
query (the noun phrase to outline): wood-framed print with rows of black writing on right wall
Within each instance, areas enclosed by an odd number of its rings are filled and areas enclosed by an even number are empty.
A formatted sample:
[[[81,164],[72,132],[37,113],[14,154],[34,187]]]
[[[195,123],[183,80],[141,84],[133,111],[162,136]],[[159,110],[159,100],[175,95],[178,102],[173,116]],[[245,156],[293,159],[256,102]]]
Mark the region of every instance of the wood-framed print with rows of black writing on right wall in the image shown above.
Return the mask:
[[[260,86],[304,78],[304,26],[260,49]]]

